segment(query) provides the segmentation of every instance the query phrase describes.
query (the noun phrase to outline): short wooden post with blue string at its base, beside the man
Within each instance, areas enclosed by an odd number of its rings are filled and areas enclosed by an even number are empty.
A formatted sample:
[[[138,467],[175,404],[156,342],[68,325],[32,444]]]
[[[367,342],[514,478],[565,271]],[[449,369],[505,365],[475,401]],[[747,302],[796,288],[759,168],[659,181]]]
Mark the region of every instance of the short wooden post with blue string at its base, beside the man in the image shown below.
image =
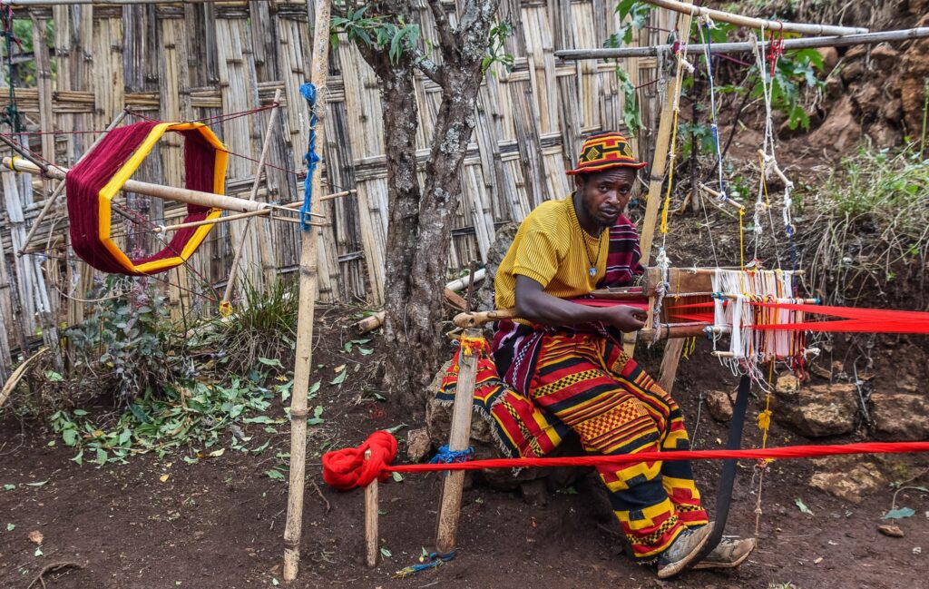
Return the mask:
[[[482,337],[480,330],[466,329],[462,335],[462,342]],[[474,402],[474,382],[478,375],[477,352],[463,345],[458,361],[460,366],[458,387],[455,391],[455,404],[451,411],[451,433],[449,434],[451,452],[467,450],[471,438],[471,405]],[[458,533],[458,517],[461,515],[463,487],[464,470],[450,472],[442,485],[436,532],[436,550],[439,554],[448,554],[454,550],[455,536]]]

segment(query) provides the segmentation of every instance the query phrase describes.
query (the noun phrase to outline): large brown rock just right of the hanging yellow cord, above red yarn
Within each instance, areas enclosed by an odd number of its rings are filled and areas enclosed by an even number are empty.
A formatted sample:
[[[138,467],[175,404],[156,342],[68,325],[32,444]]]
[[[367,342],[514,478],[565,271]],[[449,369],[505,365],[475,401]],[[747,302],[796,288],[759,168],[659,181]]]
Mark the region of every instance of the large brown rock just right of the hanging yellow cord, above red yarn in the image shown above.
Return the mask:
[[[850,384],[776,390],[774,419],[809,437],[838,436],[855,428],[857,388]]]

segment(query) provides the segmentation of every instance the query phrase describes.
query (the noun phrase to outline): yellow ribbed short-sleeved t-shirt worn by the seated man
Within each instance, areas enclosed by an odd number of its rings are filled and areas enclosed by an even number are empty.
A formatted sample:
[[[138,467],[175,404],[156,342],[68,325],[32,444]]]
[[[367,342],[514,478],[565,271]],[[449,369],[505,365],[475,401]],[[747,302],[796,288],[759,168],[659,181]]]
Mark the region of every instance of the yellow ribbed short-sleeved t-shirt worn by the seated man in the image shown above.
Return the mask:
[[[497,269],[493,282],[497,308],[516,307],[517,274],[539,282],[545,293],[559,298],[591,292],[606,274],[608,251],[609,230],[593,237],[581,229],[570,197],[540,204],[519,225]],[[594,275],[591,260],[596,260]]]

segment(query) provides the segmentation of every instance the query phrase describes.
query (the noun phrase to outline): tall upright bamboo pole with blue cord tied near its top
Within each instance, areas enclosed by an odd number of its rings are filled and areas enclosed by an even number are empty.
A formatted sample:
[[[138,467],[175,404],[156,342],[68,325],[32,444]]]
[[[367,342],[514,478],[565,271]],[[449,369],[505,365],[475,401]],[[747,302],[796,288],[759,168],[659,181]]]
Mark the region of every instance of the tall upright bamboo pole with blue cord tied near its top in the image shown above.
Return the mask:
[[[307,0],[307,12],[310,10]],[[313,22],[313,66],[311,80],[316,86],[316,144],[322,151],[326,134],[326,77],[329,72],[329,0],[317,0]],[[307,119],[308,120],[308,119]],[[322,191],[322,170],[310,178],[313,192]],[[319,211],[320,201],[312,208]],[[284,582],[293,582],[300,567],[300,531],[303,524],[303,492],[307,456],[307,389],[313,355],[313,305],[316,299],[317,231],[303,231],[300,240],[300,302],[297,311],[294,395],[291,398],[290,487],[287,493],[287,522],[284,526]]]

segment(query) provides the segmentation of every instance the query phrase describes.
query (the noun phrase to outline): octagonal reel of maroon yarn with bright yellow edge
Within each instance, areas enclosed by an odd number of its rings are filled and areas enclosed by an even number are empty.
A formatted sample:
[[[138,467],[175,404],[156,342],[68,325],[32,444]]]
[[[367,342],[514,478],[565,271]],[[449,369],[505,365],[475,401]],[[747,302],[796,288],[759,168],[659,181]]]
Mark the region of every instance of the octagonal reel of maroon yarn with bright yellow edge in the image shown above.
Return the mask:
[[[160,252],[130,259],[111,238],[111,200],[132,177],[166,132],[184,137],[185,187],[223,194],[228,152],[200,123],[142,122],[110,131],[65,177],[74,253],[100,271],[132,276],[154,274],[183,264],[213,224],[181,229]],[[184,222],[216,218],[220,209],[188,204]]]

